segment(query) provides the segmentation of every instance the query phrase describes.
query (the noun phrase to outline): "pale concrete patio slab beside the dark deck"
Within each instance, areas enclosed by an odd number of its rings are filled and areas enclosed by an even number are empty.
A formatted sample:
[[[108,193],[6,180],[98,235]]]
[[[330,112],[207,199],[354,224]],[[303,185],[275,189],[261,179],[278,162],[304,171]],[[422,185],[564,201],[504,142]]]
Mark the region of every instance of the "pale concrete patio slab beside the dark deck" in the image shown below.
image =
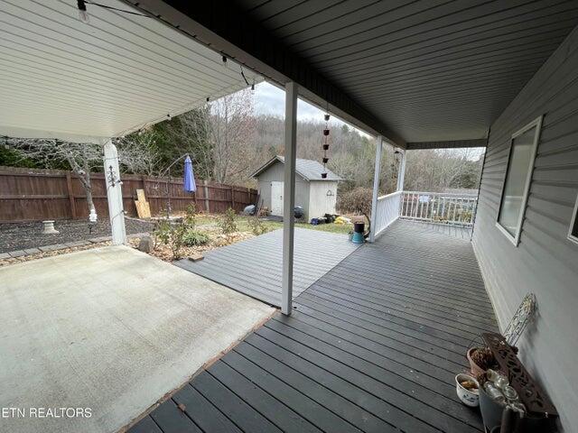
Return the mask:
[[[126,246],[14,264],[0,281],[0,407],[25,414],[0,431],[116,431],[274,311]]]

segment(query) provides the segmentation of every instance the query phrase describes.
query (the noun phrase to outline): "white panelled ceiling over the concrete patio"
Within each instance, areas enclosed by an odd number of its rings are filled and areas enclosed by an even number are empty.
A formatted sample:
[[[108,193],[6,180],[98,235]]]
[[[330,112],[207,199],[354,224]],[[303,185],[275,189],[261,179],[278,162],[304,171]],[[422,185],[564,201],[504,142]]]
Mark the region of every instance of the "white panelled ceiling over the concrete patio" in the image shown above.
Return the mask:
[[[83,23],[76,0],[0,0],[0,135],[101,142],[247,88],[238,64],[154,18],[87,8]]]

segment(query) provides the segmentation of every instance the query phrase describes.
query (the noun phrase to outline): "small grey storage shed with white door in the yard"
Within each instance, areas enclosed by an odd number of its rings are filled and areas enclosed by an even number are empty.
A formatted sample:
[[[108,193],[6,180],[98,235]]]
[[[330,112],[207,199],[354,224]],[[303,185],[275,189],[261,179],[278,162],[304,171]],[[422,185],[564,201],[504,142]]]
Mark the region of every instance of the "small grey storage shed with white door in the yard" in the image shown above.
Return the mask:
[[[327,177],[322,178],[326,172]],[[283,216],[284,157],[275,156],[252,174],[258,182],[262,206],[272,215]],[[297,159],[295,169],[295,206],[303,207],[309,221],[325,214],[335,214],[337,184],[341,178],[331,170],[323,170],[321,162]]]

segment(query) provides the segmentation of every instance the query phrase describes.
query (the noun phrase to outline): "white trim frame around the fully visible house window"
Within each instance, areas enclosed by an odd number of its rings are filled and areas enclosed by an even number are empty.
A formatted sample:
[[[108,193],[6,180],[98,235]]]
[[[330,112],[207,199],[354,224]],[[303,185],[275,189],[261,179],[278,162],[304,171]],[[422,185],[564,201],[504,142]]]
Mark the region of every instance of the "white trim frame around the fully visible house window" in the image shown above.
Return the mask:
[[[510,138],[509,151],[508,151],[508,165],[506,168],[506,176],[504,176],[504,184],[502,185],[502,191],[499,197],[499,209],[498,209],[498,216],[496,217],[496,226],[499,228],[499,231],[502,232],[512,244],[514,244],[514,246],[517,246],[520,243],[520,234],[522,233],[522,223],[524,222],[524,217],[526,216],[527,196],[529,195],[530,192],[532,175],[534,174],[534,161],[536,161],[536,151],[538,148],[538,141],[540,138],[540,130],[542,129],[542,118],[543,118],[542,115],[536,117],[536,119],[534,119],[532,122],[518,129],[514,134],[512,134],[512,137]],[[519,135],[526,133],[527,130],[532,129],[535,126],[536,126],[536,134],[534,134],[534,143],[532,144],[532,156],[528,164],[526,186],[524,188],[524,195],[522,196],[522,207],[521,207],[522,211],[520,212],[520,216],[517,219],[516,235],[511,235],[508,232],[508,230],[506,230],[506,227],[499,224],[499,213],[502,208],[504,190],[506,189],[506,180],[508,180],[508,170],[510,162],[509,159],[512,155],[512,148],[514,147],[514,139],[517,138]]]

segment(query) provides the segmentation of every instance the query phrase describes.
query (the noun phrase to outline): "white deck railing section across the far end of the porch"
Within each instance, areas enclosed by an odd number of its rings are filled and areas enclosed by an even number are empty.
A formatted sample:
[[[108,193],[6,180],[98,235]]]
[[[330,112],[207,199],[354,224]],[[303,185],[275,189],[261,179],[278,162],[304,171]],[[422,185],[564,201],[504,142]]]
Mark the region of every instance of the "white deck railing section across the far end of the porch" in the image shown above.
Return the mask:
[[[477,202],[478,197],[471,194],[404,191],[399,217],[452,226],[471,226]]]

